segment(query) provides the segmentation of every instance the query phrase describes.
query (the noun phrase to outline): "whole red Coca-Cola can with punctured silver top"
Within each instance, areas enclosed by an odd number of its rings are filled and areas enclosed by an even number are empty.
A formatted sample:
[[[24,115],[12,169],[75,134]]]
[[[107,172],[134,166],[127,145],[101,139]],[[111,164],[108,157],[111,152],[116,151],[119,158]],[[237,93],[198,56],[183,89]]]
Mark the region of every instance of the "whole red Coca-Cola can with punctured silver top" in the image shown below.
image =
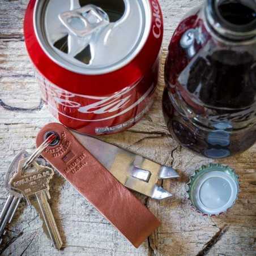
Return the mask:
[[[42,99],[71,129],[123,131],[156,99],[163,40],[157,0],[31,0],[24,36]]]

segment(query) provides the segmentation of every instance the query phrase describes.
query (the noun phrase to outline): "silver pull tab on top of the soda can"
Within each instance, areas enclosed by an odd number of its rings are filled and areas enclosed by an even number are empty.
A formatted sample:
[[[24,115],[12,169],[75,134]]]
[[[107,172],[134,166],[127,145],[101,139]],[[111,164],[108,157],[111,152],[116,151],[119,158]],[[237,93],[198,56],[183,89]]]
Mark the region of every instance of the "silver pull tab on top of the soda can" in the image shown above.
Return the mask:
[[[92,35],[98,29],[109,24],[109,17],[105,11],[95,5],[86,5],[59,14],[59,20],[69,31],[78,37]]]

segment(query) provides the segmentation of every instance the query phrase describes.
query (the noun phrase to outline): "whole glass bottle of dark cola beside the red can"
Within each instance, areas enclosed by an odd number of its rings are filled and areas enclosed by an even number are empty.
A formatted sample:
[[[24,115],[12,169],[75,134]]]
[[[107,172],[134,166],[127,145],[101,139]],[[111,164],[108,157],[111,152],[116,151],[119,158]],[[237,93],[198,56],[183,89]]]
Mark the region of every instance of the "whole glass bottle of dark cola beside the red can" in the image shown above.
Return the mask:
[[[180,23],[165,63],[163,112],[182,146],[211,158],[256,142],[256,1],[206,0]]]

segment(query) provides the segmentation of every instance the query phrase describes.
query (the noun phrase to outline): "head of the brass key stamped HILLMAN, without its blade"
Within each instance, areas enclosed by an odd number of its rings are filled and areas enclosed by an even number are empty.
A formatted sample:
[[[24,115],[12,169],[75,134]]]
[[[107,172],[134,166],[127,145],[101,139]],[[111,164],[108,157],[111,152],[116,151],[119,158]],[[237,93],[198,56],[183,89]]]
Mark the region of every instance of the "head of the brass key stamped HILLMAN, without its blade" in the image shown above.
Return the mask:
[[[24,170],[23,165],[26,160],[27,158],[19,161],[18,170],[11,179],[10,186],[21,191],[26,198],[42,190],[49,191],[49,181],[54,174],[53,169],[33,161],[31,167]]]

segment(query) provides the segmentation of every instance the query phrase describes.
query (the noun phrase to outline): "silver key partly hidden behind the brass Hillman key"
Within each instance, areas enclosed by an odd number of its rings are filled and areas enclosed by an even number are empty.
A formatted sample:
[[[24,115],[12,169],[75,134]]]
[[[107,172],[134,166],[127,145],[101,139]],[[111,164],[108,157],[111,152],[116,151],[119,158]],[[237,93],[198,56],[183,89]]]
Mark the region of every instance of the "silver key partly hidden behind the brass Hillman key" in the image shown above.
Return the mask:
[[[23,195],[20,191],[14,190],[10,187],[9,182],[14,174],[17,172],[19,161],[25,159],[29,156],[27,151],[19,152],[18,155],[15,156],[14,160],[12,160],[10,167],[7,170],[6,178],[5,178],[5,188],[10,191],[10,195],[8,196],[5,205],[0,214],[0,245],[3,241],[3,236],[5,236],[5,226],[6,224],[10,224],[15,212],[19,206],[20,200],[23,198]],[[44,159],[37,159],[38,163],[45,164]]]

